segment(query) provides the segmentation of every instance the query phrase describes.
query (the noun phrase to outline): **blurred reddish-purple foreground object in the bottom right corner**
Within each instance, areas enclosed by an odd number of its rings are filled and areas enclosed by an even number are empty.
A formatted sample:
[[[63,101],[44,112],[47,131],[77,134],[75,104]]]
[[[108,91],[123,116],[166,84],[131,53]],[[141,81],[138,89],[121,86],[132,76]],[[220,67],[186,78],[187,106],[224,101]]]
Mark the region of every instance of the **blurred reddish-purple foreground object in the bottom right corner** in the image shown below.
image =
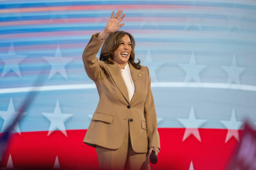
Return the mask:
[[[248,121],[226,170],[256,170],[256,131]]]

